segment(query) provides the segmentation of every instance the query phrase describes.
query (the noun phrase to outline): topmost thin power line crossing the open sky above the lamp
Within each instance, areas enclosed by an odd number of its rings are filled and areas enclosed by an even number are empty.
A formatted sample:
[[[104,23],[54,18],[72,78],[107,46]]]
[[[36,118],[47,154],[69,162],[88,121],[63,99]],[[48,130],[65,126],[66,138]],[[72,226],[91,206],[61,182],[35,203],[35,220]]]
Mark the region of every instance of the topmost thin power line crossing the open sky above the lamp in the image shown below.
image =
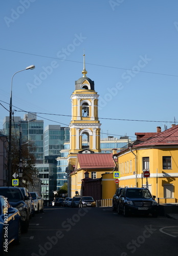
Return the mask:
[[[70,62],[75,62],[75,63],[83,63],[83,62],[81,62],[81,61],[76,61],[76,60],[62,59],[62,58],[57,58],[57,57],[51,57],[51,56],[45,56],[45,55],[33,54],[33,53],[27,53],[27,52],[20,52],[20,51],[14,51],[14,50],[3,49],[3,48],[0,48],[0,50],[9,51],[9,52],[16,52],[16,53],[21,53],[21,54],[28,54],[28,55],[33,55],[33,56],[43,57],[43,58],[58,59],[58,60],[62,60],[62,61],[70,61]],[[135,70],[133,70],[133,69],[124,69],[124,68],[113,67],[113,66],[106,66],[106,65],[100,65],[100,64],[95,64],[95,63],[87,63],[87,62],[86,62],[85,64],[87,64],[87,65],[92,65],[92,66],[103,67],[103,68],[110,68],[110,69],[120,69],[120,70],[135,71]],[[178,77],[178,75],[171,75],[171,74],[164,74],[164,73],[157,73],[157,72],[148,72],[148,71],[142,71],[142,70],[140,70],[139,72],[147,73],[147,74],[154,74],[154,75],[163,75],[163,76],[174,76],[174,77]]]

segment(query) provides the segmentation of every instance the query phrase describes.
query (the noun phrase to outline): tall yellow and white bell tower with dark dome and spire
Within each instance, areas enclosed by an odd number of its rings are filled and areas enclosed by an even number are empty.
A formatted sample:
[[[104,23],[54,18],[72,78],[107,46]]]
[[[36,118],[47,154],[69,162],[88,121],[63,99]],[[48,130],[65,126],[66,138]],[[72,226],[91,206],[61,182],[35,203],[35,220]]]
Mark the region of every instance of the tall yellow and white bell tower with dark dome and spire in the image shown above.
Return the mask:
[[[83,54],[83,76],[75,81],[71,95],[72,120],[70,122],[69,155],[88,149],[94,153],[100,150],[100,121],[98,120],[98,97],[94,81],[86,76],[85,54]]]

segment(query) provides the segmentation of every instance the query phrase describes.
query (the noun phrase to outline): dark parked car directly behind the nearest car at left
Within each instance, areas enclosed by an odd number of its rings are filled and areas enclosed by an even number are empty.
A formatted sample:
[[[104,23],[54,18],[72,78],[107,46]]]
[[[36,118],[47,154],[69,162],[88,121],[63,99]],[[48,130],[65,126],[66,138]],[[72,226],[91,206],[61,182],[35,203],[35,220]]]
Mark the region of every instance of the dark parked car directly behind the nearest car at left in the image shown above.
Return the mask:
[[[12,207],[19,210],[21,230],[27,232],[29,227],[29,210],[21,190],[18,187],[0,187],[0,195],[7,198]]]

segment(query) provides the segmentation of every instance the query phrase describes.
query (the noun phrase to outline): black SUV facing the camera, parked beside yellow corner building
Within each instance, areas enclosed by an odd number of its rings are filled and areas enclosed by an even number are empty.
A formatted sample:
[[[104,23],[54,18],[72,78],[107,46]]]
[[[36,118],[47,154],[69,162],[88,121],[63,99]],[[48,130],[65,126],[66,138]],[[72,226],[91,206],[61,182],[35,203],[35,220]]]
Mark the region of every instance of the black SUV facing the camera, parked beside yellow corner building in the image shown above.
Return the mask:
[[[157,217],[158,203],[154,198],[147,188],[125,187],[119,197],[118,214],[152,214],[152,217]]]

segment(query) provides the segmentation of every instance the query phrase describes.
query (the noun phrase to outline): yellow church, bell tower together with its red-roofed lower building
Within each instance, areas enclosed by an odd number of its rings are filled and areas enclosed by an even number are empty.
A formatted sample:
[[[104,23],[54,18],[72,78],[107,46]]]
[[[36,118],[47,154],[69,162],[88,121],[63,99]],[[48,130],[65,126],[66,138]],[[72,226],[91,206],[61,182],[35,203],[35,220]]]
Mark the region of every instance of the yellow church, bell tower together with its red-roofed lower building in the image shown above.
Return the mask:
[[[86,181],[84,180],[86,173],[88,179],[93,179],[95,185],[100,187],[101,184],[98,181],[102,178],[102,174],[113,172],[116,167],[112,154],[101,154],[99,95],[95,91],[94,81],[86,77],[86,73],[83,55],[83,76],[75,82],[75,91],[71,95],[72,120],[68,154],[69,170],[67,171],[68,195],[71,197],[75,196],[76,191],[78,195],[84,195],[82,182]],[[112,180],[114,183],[113,178]],[[97,189],[100,188],[97,187]]]

